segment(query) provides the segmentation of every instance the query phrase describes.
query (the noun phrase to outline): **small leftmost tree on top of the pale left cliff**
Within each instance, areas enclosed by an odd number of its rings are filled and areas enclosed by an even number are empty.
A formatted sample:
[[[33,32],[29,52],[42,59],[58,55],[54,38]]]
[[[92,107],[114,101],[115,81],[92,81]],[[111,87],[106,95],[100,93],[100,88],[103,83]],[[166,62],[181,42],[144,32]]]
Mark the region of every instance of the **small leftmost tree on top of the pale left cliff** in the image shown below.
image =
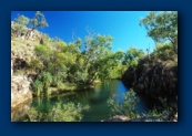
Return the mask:
[[[26,31],[26,25],[29,23],[29,18],[19,15],[18,18],[16,18],[16,23],[17,36],[19,36]]]

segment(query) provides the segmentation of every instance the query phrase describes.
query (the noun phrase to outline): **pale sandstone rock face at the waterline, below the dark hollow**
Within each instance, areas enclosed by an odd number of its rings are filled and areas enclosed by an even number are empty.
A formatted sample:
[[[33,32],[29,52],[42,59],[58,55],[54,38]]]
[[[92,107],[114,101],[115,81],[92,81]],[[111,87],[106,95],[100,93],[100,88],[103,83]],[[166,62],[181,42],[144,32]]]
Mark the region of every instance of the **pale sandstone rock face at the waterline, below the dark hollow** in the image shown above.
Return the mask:
[[[30,91],[30,82],[26,76],[12,76],[11,77],[11,108],[19,104],[32,98],[32,92]]]

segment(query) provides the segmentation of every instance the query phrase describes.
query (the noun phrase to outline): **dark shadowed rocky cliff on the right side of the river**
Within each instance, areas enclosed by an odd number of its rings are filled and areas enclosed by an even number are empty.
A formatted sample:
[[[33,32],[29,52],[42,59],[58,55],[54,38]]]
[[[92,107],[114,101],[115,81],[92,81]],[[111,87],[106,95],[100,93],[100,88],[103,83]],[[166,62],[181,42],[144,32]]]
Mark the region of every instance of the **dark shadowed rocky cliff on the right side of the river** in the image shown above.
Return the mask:
[[[145,56],[137,66],[130,66],[122,77],[135,92],[148,95],[156,101],[166,100],[161,106],[178,107],[178,56]],[[173,106],[174,105],[174,106]]]

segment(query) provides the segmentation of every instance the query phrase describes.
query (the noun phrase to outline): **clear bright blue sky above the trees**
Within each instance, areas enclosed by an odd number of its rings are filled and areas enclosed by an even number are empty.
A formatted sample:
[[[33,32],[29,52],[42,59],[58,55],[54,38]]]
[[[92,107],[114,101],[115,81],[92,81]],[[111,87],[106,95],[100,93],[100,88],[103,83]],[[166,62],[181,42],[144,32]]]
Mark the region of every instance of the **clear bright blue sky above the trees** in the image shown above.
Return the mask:
[[[49,28],[39,29],[50,36],[58,36],[64,42],[73,41],[72,35],[81,38],[88,35],[87,28],[93,33],[114,38],[112,51],[127,51],[131,45],[145,51],[154,48],[154,42],[146,36],[145,29],[139,25],[140,19],[148,11],[41,11]],[[18,14],[33,18],[36,11],[12,11],[11,20]],[[74,38],[75,38],[74,36]]]

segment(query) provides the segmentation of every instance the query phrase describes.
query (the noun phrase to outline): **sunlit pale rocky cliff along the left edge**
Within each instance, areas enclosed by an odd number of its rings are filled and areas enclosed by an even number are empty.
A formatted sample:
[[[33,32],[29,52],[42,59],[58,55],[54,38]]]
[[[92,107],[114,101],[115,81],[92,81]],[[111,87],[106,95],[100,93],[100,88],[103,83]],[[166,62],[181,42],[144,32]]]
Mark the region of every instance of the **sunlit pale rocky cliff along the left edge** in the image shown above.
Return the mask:
[[[11,22],[11,109],[32,98],[29,63],[34,46],[42,40],[42,33],[38,31],[32,31],[27,40],[24,33],[17,33],[16,27],[17,23]],[[28,30],[26,28],[26,32]]]

